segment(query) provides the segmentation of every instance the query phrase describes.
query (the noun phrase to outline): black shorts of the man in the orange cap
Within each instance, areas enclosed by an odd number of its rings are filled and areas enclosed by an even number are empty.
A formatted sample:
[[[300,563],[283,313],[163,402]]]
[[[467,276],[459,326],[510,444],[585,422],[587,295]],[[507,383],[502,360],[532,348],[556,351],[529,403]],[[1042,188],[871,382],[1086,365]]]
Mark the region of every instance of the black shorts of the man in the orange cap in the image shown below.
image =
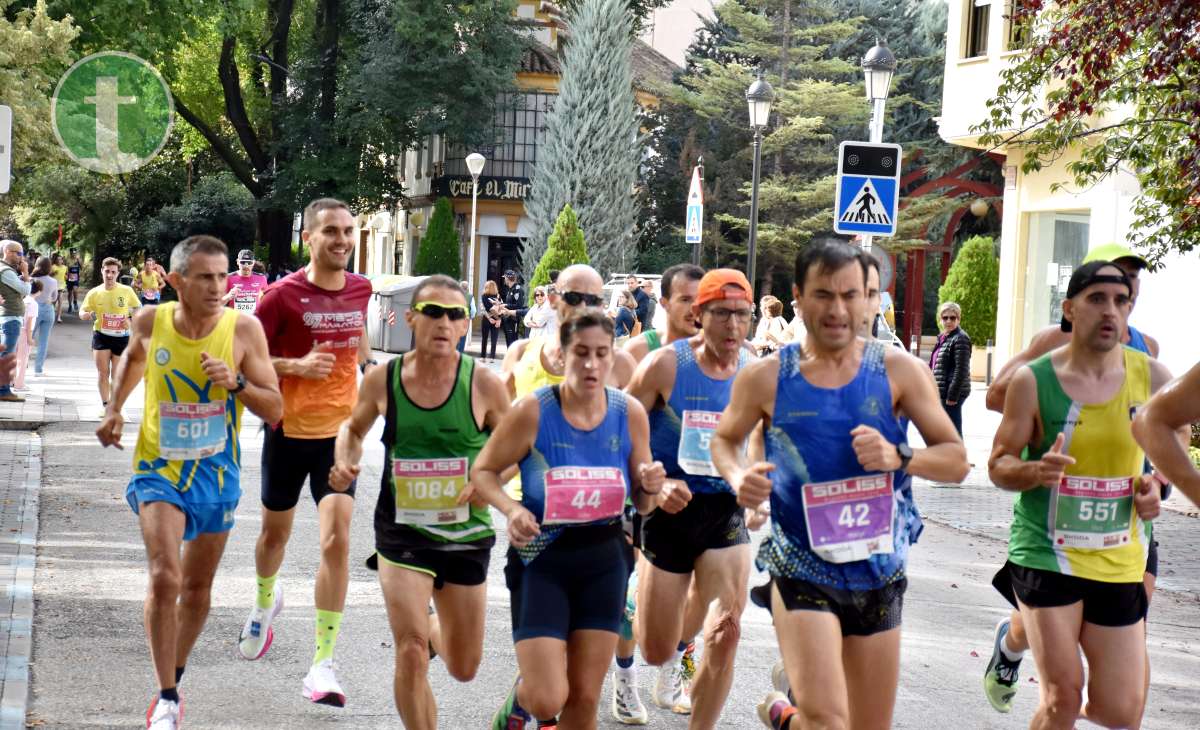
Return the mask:
[[[744,513],[731,493],[692,495],[676,514],[661,509],[642,526],[642,552],[650,564],[667,573],[691,573],[707,550],[750,541]]]

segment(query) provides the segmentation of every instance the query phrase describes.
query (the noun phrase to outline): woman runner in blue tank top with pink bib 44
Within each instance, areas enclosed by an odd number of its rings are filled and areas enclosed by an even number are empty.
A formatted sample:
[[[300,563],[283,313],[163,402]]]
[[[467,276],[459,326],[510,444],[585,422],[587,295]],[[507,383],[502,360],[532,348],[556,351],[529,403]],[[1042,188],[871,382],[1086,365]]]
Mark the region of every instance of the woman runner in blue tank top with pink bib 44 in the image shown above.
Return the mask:
[[[520,675],[496,730],[532,718],[545,726],[559,712],[564,726],[596,726],[632,568],[620,516],[626,498],[648,511],[665,475],[650,462],[641,403],[605,387],[612,321],[587,310],[564,319],[559,336],[563,382],[522,397],[498,429],[512,436],[488,441],[472,469],[475,489],[508,517],[511,543],[504,573]],[[526,490],[515,502],[500,473],[518,462]]]

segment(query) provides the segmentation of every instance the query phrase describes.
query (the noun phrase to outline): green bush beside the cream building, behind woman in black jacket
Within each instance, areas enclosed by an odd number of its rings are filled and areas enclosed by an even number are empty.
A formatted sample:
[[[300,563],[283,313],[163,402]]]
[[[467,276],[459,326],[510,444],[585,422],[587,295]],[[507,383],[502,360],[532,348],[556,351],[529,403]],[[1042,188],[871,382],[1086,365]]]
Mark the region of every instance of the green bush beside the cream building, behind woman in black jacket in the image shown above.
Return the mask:
[[[996,337],[996,299],[1000,292],[1000,257],[985,235],[966,240],[950,264],[946,283],[937,291],[938,306],[954,301],[962,307],[959,327],[971,343],[983,347]]]

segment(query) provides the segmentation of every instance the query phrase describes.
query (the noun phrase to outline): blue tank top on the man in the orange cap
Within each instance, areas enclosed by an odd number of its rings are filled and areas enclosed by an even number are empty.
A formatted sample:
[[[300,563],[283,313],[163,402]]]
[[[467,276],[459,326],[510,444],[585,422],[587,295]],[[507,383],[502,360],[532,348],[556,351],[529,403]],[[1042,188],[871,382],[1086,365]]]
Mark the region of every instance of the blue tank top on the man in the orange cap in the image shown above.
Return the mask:
[[[676,382],[667,402],[649,413],[650,453],[662,462],[667,479],[683,480],[692,493],[733,493],[716,475],[708,451],[716,419],[730,405],[733,378],[718,381],[704,375],[686,339],[676,340],[671,347],[676,355]],[[749,360],[750,355],[742,348],[738,370]],[[679,462],[680,451],[684,465]]]

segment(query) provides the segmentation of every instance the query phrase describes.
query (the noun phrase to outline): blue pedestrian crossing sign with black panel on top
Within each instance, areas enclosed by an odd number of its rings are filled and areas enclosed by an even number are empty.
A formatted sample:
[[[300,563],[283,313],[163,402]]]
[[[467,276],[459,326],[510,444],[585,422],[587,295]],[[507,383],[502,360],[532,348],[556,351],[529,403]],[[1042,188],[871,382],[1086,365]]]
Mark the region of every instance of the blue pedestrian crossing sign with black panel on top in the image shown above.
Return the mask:
[[[842,142],[833,229],[895,235],[900,203],[899,144]]]

